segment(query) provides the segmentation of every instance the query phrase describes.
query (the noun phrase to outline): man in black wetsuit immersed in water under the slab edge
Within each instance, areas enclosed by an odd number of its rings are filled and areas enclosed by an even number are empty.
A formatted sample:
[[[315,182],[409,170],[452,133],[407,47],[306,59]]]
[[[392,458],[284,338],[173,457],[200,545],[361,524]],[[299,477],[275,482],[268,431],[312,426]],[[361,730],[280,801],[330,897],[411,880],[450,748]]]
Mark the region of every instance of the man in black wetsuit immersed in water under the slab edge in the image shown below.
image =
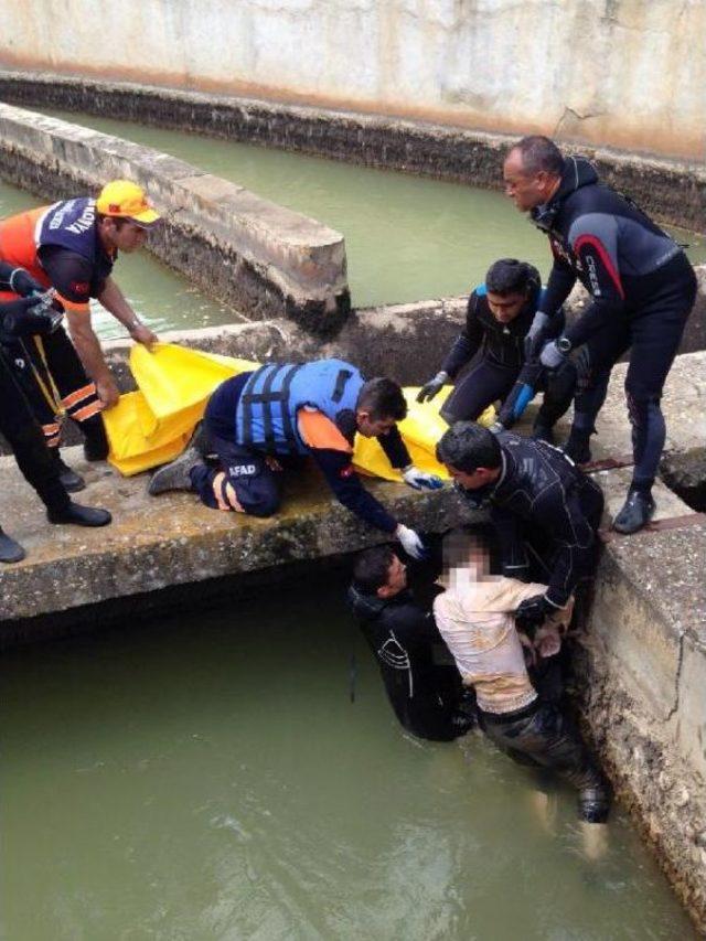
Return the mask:
[[[439,661],[449,652],[430,611],[407,587],[407,568],[389,546],[355,560],[349,600],[399,724],[418,738],[451,741],[473,725],[458,670]]]

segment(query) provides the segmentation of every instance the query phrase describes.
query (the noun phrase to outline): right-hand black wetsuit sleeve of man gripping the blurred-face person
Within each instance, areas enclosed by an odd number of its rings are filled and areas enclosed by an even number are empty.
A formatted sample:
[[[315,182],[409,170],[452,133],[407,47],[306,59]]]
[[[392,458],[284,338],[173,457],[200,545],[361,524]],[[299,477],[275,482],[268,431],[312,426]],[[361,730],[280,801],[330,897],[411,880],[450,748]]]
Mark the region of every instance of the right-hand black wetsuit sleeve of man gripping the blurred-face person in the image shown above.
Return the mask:
[[[596,533],[579,501],[558,483],[535,501],[532,522],[550,535],[556,549],[546,598],[565,608],[581,575],[590,570]]]

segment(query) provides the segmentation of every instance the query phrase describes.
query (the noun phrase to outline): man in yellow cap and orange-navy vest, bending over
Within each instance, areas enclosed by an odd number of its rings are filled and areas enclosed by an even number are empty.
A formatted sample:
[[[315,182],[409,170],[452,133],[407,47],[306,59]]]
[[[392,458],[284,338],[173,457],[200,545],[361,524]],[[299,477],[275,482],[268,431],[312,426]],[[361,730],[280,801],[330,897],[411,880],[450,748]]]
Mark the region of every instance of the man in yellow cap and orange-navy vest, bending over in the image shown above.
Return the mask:
[[[61,459],[62,416],[81,428],[86,460],[104,460],[108,440],[100,411],[119,397],[90,324],[88,302],[97,298],[137,342],[150,345],[157,340],[110,272],[118,253],[140,248],[158,218],[140,186],[115,180],[97,200],[63,200],[0,222],[0,259],[28,270],[42,288],[55,288],[66,310],[73,344],[60,327],[51,334],[18,338],[6,354],[71,491],[85,484]],[[0,301],[17,297],[14,287],[1,293]]]

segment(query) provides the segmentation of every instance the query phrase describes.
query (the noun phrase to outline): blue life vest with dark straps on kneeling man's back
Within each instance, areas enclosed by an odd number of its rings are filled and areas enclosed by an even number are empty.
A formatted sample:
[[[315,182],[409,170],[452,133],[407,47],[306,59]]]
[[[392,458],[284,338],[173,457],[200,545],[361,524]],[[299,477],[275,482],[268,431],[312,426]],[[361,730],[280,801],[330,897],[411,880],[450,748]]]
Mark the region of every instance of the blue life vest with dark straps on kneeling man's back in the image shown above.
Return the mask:
[[[308,405],[335,421],[339,413],[355,409],[364,383],[344,360],[260,366],[235,409],[236,441],[271,455],[306,455],[297,411]]]

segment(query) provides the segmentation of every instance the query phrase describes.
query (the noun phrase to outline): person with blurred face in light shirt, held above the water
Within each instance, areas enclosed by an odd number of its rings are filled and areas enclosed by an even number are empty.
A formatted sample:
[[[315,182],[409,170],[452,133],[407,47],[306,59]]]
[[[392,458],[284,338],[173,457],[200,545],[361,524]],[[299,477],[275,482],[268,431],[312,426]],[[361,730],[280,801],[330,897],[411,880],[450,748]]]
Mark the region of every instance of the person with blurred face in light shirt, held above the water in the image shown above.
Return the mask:
[[[445,564],[447,590],[435,599],[434,613],[463,682],[475,689],[481,728],[516,760],[555,770],[578,789],[581,820],[603,823],[609,811],[606,781],[578,729],[537,695],[515,628],[516,609],[545,594],[547,586],[491,575],[488,545],[478,534],[451,534]],[[557,639],[570,614],[570,601],[555,609],[537,631],[538,650]]]

